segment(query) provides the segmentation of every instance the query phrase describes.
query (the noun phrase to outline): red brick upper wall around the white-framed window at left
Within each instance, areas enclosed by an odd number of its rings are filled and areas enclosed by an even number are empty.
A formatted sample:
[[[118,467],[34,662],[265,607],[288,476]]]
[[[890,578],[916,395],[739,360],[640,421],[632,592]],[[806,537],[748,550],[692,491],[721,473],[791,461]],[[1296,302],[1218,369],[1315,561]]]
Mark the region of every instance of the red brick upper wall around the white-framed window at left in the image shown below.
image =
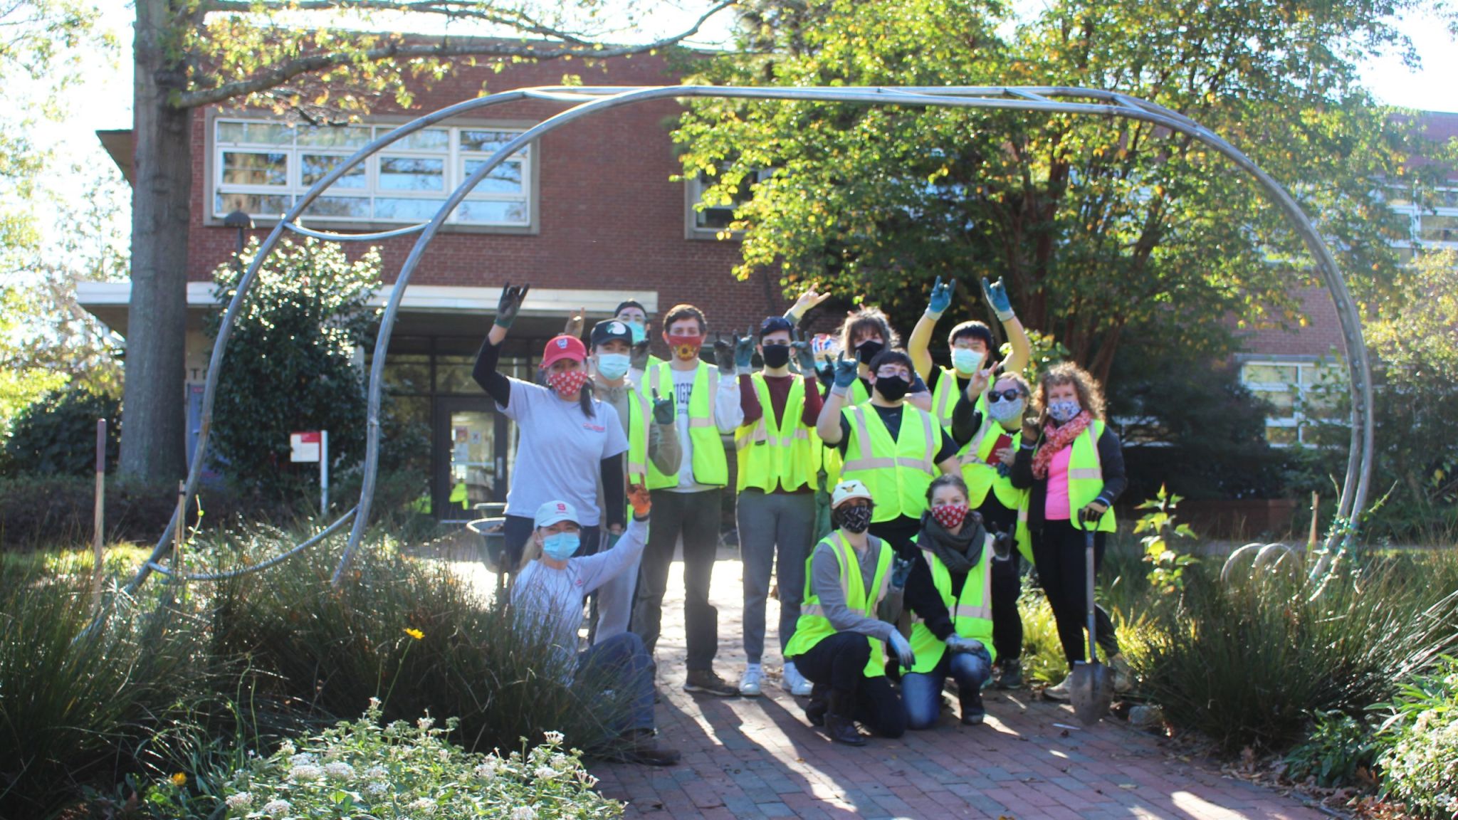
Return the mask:
[[[580,73],[586,85],[674,85],[660,57],[614,58],[599,69],[579,61],[510,67],[500,74],[462,69],[417,95],[414,114],[488,92],[558,85],[564,73]],[[493,107],[483,117],[542,120],[566,105],[538,101]],[[397,114],[398,109],[381,109]],[[716,330],[758,324],[779,314],[777,276],[738,282],[730,268],[739,258],[733,241],[684,238],[684,184],[669,177],[671,128],[679,112],[672,101],[644,102],[596,114],[553,131],[539,143],[539,200],[535,235],[442,231],[411,277],[418,285],[497,286],[531,282],[538,287],[655,289],[659,308],[693,302]],[[208,280],[227,260],[238,233],[204,226],[207,185],[204,160],[207,118],[192,128],[194,187],[188,279]],[[260,238],[267,229],[255,231]],[[392,282],[416,238],[383,244],[385,279]],[[363,251],[353,244],[351,251]]]

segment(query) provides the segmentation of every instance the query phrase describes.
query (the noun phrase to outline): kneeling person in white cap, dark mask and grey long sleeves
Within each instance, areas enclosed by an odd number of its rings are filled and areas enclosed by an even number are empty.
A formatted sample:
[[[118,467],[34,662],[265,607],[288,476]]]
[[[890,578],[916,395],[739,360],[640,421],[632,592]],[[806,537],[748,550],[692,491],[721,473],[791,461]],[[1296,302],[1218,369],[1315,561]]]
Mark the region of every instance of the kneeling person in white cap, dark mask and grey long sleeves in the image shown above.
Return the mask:
[[[876,608],[891,585],[895,550],[869,535],[872,500],[866,486],[841,481],[831,496],[837,530],[806,560],[805,603],[784,655],[812,684],[805,716],[831,740],[865,746],[865,724],[882,737],[901,737],[905,711],[886,680],[885,643],[904,665],[916,665],[911,645]]]

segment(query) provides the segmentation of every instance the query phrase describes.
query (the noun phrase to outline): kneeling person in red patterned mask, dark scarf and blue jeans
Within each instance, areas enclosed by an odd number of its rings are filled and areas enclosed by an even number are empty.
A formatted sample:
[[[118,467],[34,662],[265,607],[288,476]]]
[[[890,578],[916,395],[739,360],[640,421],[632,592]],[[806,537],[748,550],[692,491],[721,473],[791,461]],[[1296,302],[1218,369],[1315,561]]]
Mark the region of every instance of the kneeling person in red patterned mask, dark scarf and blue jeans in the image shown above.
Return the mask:
[[[983,722],[981,690],[993,668],[991,538],[967,509],[961,476],[937,477],[927,498],[916,538],[921,554],[905,592],[916,664],[901,668],[901,702],[914,730],[936,724],[948,674],[956,680],[962,722]]]

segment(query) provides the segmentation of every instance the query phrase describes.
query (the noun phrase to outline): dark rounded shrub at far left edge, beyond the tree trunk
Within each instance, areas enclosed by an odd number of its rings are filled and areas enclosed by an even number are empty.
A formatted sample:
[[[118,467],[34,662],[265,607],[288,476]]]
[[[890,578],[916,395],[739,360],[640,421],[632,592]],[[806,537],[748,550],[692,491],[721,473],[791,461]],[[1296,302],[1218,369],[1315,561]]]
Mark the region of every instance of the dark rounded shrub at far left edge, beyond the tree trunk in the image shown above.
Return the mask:
[[[121,400],[83,387],[47,392],[16,416],[4,442],[10,474],[93,476],[96,419],[106,419],[106,470],[121,446]]]

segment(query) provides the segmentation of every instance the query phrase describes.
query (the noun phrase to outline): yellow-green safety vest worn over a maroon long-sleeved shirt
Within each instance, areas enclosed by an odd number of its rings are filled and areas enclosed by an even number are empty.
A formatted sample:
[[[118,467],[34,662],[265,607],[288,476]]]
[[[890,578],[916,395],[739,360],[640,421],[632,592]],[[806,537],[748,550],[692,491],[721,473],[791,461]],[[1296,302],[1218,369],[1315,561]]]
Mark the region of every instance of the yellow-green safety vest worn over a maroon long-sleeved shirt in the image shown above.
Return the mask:
[[[798,490],[814,479],[811,473],[811,432],[800,422],[805,409],[805,382],[795,379],[784,398],[784,414],[774,420],[774,404],[764,374],[749,376],[755,398],[760,400],[760,420],[741,425],[733,435],[738,454],[738,490],[755,487],[767,493],[776,487]]]

